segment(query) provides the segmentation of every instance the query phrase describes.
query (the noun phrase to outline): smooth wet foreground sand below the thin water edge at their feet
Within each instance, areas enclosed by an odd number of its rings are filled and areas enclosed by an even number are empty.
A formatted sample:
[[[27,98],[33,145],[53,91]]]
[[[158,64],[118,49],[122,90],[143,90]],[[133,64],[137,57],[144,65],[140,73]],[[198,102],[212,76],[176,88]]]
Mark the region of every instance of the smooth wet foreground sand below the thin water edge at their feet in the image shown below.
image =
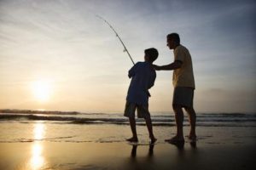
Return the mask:
[[[0,143],[0,169],[255,169],[255,144]]]

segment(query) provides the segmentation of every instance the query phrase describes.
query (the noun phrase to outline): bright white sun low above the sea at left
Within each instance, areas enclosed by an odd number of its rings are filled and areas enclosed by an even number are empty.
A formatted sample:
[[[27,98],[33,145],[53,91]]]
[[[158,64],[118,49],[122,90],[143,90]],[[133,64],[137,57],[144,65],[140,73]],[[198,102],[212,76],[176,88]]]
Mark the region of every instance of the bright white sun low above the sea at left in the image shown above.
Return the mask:
[[[51,94],[49,81],[38,80],[36,82],[32,82],[32,94],[39,102],[48,101]]]

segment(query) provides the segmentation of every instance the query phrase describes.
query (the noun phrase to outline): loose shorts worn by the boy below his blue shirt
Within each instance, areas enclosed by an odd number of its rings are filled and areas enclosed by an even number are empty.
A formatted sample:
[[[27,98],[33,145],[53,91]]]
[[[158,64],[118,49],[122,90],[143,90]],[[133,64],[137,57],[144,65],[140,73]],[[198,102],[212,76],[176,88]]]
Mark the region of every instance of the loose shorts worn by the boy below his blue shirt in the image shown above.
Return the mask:
[[[148,111],[147,105],[137,105],[135,103],[131,103],[128,101],[126,101],[126,104],[125,104],[124,116],[129,117],[129,118],[135,118],[136,109],[137,109],[137,117],[138,118],[150,117],[150,113]]]

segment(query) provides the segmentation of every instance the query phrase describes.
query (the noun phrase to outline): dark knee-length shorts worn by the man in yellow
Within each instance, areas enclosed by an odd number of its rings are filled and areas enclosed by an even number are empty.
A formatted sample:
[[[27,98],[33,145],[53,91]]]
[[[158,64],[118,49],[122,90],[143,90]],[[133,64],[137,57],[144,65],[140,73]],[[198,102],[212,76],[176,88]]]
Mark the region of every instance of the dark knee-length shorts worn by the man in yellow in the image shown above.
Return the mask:
[[[172,105],[193,107],[194,88],[176,87],[173,92]]]

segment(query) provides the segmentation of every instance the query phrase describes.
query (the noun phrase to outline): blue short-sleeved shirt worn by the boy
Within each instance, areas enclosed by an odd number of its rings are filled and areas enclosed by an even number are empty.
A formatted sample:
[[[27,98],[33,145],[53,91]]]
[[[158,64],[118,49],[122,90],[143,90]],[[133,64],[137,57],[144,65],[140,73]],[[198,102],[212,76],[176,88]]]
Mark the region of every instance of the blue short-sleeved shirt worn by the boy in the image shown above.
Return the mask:
[[[137,105],[148,105],[148,89],[154,86],[156,73],[148,61],[137,62],[128,72],[131,78],[126,100]]]

